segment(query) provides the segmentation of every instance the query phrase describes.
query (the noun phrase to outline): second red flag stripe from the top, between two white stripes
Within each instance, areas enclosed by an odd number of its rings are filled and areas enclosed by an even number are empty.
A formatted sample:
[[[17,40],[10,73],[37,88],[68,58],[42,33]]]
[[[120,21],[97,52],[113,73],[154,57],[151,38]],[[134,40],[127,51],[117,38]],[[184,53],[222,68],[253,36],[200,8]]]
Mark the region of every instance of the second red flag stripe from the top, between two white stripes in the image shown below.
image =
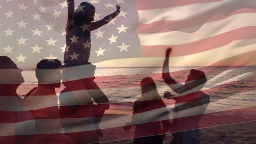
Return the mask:
[[[256,9],[250,5],[234,4],[220,7],[205,14],[193,17],[184,21],[155,21],[149,24],[139,23],[138,33],[165,33],[172,31],[182,31],[185,28],[200,28],[207,22],[224,20],[232,15],[243,13],[256,13]]]

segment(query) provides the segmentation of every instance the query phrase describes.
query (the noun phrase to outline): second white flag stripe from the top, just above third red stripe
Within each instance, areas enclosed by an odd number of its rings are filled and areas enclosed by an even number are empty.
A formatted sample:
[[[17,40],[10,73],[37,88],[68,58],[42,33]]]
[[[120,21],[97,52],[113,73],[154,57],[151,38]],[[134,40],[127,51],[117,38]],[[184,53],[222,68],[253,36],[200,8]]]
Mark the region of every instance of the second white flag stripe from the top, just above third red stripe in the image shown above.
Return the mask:
[[[255,13],[232,15],[224,20],[207,22],[202,27],[192,27],[181,31],[139,34],[141,45],[180,45],[211,38],[219,34],[246,26],[256,26]],[[189,48],[189,47],[188,47]]]

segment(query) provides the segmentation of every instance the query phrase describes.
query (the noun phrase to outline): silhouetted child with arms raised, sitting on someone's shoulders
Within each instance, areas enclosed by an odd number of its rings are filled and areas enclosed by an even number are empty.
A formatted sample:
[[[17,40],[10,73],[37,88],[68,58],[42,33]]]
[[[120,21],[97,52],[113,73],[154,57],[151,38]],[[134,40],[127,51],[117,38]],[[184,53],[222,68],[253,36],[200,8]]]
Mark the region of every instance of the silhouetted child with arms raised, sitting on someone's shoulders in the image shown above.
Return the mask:
[[[86,63],[90,57],[91,51],[91,31],[106,25],[115,16],[120,13],[120,6],[117,10],[100,21],[94,21],[95,7],[88,3],[82,2],[74,11],[74,0],[68,0],[68,20],[66,29],[66,46],[67,51],[64,54],[64,63]],[[72,58],[72,55],[78,55]]]

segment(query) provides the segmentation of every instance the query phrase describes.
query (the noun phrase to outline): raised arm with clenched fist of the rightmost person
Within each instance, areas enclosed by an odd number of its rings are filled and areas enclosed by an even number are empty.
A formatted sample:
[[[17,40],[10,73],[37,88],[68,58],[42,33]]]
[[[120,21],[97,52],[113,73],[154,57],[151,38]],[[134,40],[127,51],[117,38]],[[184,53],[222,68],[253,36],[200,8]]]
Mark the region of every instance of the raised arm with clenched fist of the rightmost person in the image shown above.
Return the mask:
[[[174,79],[172,79],[169,71],[169,56],[172,51],[172,48],[168,48],[165,53],[165,61],[162,65],[162,79],[167,83],[167,85],[176,93],[182,91],[184,85],[181,83],[177,83]]]

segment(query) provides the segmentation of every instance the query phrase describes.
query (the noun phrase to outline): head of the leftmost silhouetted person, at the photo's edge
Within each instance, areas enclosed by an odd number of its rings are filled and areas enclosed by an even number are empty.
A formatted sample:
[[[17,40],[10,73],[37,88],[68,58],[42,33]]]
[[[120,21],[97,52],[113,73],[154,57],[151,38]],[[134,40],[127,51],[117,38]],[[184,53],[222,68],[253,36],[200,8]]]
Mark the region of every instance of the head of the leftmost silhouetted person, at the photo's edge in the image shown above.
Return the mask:
[[[4,91],[15,91],[24,82],[21,69],[7,56],[0,56],[0,87]]]

